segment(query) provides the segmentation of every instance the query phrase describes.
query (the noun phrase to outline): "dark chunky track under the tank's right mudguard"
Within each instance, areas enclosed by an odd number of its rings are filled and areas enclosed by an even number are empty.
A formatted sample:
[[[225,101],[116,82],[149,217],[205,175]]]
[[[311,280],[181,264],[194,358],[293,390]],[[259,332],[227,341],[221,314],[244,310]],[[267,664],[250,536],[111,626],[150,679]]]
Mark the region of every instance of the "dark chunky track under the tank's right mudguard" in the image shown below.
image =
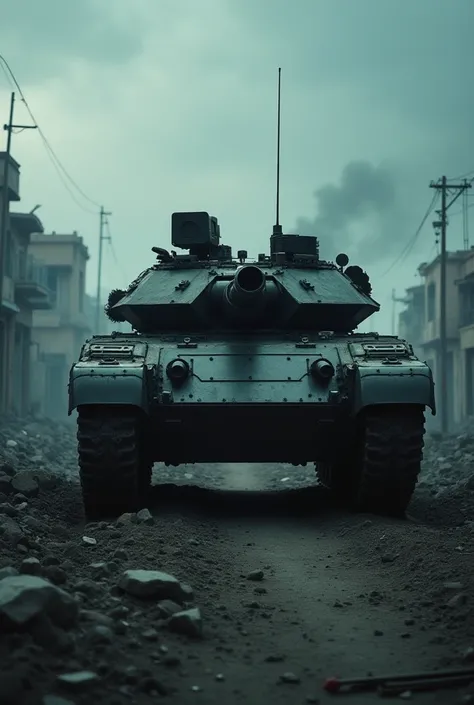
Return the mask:
[[[424,433],[421,407],[372,408],[361,418],[353,458],[318,463],[318,479],[357,511],[403,516],[418,482]]]

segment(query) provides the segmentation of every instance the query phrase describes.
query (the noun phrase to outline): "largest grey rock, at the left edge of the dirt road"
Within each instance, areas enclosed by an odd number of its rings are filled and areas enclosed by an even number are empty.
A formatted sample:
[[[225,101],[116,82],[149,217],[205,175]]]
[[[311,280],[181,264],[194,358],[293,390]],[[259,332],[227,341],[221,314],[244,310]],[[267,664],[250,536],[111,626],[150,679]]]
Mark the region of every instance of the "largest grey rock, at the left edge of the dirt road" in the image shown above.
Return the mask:
[[[78,615],[77,602],[66,592],[34,575],[13,575],[0,582],[0,621],[10,629],[26,625],[39,614],[69,628]]]

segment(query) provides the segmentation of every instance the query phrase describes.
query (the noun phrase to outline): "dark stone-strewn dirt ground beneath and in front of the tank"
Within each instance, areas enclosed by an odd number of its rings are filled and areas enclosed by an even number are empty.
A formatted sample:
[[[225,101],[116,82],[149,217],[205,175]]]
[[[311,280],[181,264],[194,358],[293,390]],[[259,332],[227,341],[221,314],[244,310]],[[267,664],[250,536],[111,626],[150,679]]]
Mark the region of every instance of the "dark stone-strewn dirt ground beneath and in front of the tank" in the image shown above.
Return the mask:
[[[445,500],[421,487],[395,521],[341,511],[309,467],[157,467],[149,523],[85,525],[67,475],[1,504],[24,538],[3,533],[0,569],[46,577],[80,607],[64,632],[0,632],[2,705],[361,705],[380,696],[330,695],[324,680],[474,668],[474,517],[453,500],[443,522]],[[124,591],[129,569],[190,585],[194,627]],[[404,697],[474,702],[469,692]]]

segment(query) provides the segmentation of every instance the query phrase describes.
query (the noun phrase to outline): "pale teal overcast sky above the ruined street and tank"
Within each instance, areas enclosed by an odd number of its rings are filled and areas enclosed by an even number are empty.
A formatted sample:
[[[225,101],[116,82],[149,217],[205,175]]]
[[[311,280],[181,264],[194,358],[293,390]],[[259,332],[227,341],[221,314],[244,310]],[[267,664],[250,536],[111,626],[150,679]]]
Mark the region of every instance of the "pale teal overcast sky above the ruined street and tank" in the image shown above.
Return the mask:
[[[234,252],[268,250],[281,66],[283,227],[366,268],[390,327],[392,287],[436,254],[430,217],[385,275],[429,182],[474,170],[472,0],[0,0],[0,17],[0,52],[53,149],[113,213],[108,287],[153,262],[176,210],[216,215]],[[3,122],[10,91],[0,72]],[[21,104],[15,121],[28,122]],[[12,154],[16,209],[39,203],[47,231],[83,235],[94,292],[97,208],[71,186],[86,210],[73,200],[36,131],[14,135]],[[449,244],[462,247],[460,215]]]

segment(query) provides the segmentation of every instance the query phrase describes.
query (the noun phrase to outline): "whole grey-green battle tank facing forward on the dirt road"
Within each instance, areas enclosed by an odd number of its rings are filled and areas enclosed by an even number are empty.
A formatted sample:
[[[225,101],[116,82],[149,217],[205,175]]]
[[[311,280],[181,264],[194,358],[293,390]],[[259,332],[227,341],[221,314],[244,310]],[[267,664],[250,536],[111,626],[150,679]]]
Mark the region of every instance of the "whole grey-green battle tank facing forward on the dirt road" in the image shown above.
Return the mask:
[[[367,273],[281,226],[256,261],[207,212],[171,226],[181,254],[152,248],[109,295],[131,332],[87,340],[70,371],[87,516],[146,506],[155,462],[315,463],[354,510],[403,515],[434,384],[409,342],[357,331],[379,310]]]

